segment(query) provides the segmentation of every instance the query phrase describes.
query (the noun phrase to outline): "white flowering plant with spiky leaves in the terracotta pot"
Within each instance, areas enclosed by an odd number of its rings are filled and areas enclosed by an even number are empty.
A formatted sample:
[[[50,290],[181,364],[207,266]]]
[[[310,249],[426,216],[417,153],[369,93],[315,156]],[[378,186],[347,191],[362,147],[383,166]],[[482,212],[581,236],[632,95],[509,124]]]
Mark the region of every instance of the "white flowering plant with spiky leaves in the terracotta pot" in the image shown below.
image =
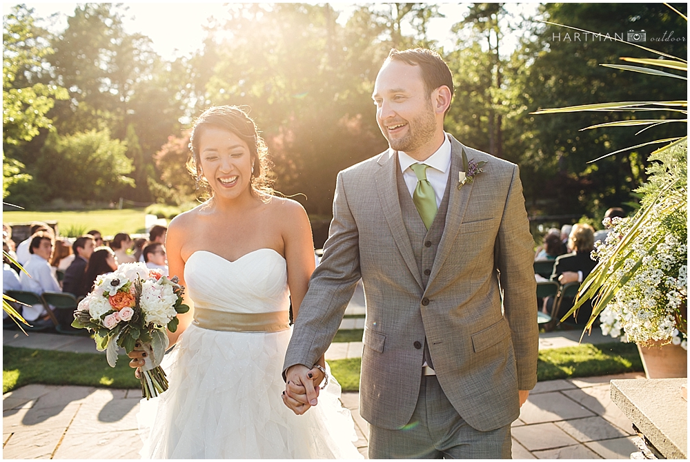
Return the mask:
[[[604,220],[611,231],[592,252],[599,264],[568,316],[592,298],[587,327],[600,316],[604,335],[687,349],[687,142],[649,160],[640,210]]]

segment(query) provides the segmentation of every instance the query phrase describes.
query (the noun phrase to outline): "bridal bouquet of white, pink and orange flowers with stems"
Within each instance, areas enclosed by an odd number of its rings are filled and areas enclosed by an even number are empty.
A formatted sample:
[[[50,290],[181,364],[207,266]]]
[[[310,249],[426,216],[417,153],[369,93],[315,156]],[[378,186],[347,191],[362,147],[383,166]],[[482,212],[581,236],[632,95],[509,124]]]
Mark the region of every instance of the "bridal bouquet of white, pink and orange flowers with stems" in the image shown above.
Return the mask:
[[[141,366],[141,391],[146,399],[168,389],[160,367],[168,347],[166,328],[177,330],[177,314],[186,313],[184,287],[144,263],[124,263],[113,273],[98,276],[93,291],[79,302],[73,327],[94,332],[96,348],[106,352],[110,367],[117,362],[117,349],[130,353],[137,341],[150,345]]]

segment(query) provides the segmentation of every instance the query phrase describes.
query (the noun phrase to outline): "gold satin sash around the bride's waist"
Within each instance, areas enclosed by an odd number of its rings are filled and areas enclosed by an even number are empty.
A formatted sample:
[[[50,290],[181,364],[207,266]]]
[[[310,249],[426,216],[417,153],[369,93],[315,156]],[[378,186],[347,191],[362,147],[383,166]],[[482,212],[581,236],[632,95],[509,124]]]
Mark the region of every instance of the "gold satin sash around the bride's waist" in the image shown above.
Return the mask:
[[[224,332],[279,332],[290,328],[288,311],[268,313],[228,313],[215,309],[194,308],[197,327]]]

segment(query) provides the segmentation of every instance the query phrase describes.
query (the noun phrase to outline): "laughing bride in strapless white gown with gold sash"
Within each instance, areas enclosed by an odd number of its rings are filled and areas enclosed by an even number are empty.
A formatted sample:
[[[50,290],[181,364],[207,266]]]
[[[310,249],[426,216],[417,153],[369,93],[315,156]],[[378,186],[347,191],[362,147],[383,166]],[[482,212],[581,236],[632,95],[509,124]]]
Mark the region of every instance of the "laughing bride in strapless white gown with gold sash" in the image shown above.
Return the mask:
[[[355,432],[331,377],[304,416],[282,402],[282,364],[314,269],[302,206],[272,195],[266,144],[235,106],[206,110],[188,169],[211,197],[168,227],[170,275],[192,307],[179,315],[163,367],[170,388],[141,401],[146,459],[355,459]],[[289,298],[288,298],[289,296]],[[139,367],[146,356],[130,354]],[[324,380],[321,358],[311,371]]]

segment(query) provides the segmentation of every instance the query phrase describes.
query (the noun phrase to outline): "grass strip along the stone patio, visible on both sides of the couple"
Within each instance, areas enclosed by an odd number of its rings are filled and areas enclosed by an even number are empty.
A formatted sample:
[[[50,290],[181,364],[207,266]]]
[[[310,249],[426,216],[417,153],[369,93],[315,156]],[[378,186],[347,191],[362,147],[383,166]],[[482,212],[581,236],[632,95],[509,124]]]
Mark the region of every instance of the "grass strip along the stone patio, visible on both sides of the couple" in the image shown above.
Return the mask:
[[[359,389],[360,358],[328,361],[331,372],[346,392]],[[539,353],[537,378],[573,378],[642,372],[638,349],[632,343],[606,343],[547,349]],[[28,385],[88,385],[139,388],[128,360],[121,356],[111,368],[103,354],[48,352],[3,347],[3,393]]]

